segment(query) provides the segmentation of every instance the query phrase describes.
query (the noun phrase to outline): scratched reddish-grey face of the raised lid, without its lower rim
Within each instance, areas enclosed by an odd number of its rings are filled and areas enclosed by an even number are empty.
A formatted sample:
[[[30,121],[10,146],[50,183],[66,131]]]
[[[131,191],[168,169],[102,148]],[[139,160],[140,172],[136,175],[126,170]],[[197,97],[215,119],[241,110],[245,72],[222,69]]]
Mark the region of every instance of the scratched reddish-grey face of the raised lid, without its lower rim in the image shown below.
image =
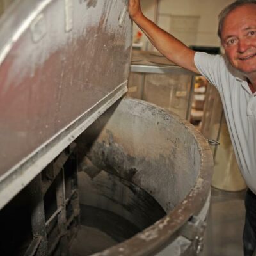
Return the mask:
[[[1,16],[0,179],[86,111],[97,112],[109,93],[124,94],[132,40],[126,6],[22,0]]]

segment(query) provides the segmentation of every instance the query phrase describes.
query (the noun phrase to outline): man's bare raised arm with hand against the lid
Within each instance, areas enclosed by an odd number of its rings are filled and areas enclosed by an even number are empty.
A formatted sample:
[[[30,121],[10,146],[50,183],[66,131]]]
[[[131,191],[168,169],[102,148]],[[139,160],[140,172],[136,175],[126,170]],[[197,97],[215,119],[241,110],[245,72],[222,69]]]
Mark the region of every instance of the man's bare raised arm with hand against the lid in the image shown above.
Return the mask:
[[[182,68],[199,74],[194,62],[195,51],[148,20],[141,12],[140,0],[129,0],[129,15],[166,58]]]

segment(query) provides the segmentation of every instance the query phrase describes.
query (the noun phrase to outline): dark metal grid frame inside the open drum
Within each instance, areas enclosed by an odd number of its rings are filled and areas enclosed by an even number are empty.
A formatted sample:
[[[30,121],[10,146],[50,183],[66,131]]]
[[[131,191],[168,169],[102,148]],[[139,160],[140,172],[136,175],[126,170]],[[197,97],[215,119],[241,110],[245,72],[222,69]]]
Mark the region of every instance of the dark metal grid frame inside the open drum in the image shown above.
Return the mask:
[[[65,164],[69,161],[72,166],[70,175],[65,176]],[[44,173],[44,174],[43,174]],[[43,179],[44,175],[44,179]],[[71,191],[67,191],[65,183],[68,183]],[[48,189],[56,184],[56,203],[57,209],[45,220],[44,196]],[[77,185],[77,150],[76,144],[72,143],[60,156],[58,156],[42,173],[37,175],[28,186],[31,196],[31,227],[33,240],[29,244],[24,256],[46,256],[53,255],[55,250],[61,250],[61,255],[68,255],[68,244],[77,232],[79,225],[79,202],[78,202],[78,185]],[[72,205],[72,214],[67,220],[67,207]],[[57,221],[58,236],[54,241],[47,241],[54,227],[52,223]],[[76,221],[74,221],[76,220]],[[70,223],[73,225],[70,225]]]

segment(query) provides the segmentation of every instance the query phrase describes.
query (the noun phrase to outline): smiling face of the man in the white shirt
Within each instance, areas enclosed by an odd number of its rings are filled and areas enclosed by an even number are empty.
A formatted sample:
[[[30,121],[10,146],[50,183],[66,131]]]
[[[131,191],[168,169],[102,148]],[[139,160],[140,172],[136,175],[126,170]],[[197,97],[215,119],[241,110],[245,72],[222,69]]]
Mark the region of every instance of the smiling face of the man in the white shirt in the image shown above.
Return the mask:
[[[256,4],[240,6],[227,15],[221,43],[233,67],[246,75],[256,74]]]

